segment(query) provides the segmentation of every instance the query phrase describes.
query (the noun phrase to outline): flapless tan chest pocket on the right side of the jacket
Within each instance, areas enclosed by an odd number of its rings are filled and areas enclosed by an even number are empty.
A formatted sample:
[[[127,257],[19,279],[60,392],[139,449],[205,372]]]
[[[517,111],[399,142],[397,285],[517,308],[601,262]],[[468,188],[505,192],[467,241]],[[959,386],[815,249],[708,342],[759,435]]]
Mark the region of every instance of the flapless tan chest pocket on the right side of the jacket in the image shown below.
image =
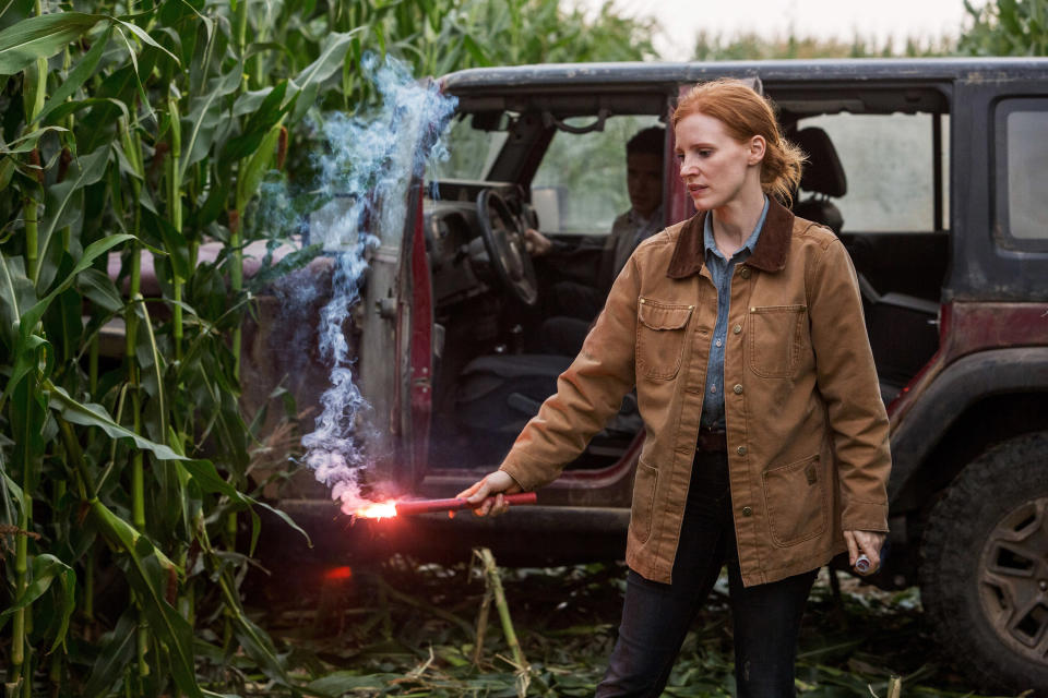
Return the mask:
[[[750,309],[750,370],[764,378],[788,378],[797,370],[807,327],[807,305]]]

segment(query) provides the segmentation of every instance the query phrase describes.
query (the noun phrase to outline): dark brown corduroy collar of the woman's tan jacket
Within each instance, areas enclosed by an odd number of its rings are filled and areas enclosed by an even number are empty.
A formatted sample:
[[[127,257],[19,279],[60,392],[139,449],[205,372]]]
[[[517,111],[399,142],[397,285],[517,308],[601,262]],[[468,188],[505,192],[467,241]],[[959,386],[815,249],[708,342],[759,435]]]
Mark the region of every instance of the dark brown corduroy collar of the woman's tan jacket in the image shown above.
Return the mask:
[[[769,198],[767,216],[764,218],[764,227],[761,228],[761,237],[757,239],[753,254],[746,264],[762,272],[781,272],[786,267],[786,253],[789,251],[789,238],[794,231],[794,214],[774,197]],[[669,278],[683,279],[702,270],[706,258],[703,238],[705,218],[706,214],[703,212],[684,222],[680,238],[677,239],[677,246],[674,248],[669,268],[666,269]]]

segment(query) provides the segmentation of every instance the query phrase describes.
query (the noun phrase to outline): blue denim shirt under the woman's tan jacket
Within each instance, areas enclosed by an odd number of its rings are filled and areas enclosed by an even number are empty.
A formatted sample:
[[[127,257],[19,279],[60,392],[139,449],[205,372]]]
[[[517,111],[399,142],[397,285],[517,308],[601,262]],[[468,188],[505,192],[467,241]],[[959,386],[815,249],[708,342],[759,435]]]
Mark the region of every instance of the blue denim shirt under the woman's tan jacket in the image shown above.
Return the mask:
[[[710,340],[710,363],[706,365],[706,396],[702,402],[700,424],[708,429],[724,429],[724,348],[728,344],[728,305],[731,301],[731,276],[735,265],[746,262],[753,254],[757,240],[761,237],[764,218],[767,217],[767,196],[764,197],[764,210],[757,227],[738,252],[725,260],[713,241],[713,214],[706,214],[703,231],[706,251],[706,267],[717,288],[717,324],[713,327]]]

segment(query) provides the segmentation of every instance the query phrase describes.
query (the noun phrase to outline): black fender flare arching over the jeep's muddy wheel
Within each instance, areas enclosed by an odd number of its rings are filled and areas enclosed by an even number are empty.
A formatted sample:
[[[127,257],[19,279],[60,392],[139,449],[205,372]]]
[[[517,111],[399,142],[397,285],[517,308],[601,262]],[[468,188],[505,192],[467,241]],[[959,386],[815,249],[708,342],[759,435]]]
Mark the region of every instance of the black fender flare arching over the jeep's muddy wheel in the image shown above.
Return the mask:
[[[950,425],[973,405],[992,395],[1039,392],[1048,393],[1048,347],[980,351],[943,369],[919,395],[909,396],[915,404],[892,433],[889,502],[905,491]]]

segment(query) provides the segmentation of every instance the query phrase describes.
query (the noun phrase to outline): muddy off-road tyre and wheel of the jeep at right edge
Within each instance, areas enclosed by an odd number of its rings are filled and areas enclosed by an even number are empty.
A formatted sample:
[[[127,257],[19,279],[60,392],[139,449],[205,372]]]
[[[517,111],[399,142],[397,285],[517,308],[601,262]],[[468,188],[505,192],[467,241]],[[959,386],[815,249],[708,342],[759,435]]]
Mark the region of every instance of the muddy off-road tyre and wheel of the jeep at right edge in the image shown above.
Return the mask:
[[[920,591],[974,681],[1048,688],[1048,432],[1003,442],[950,484],[925,529]]]

